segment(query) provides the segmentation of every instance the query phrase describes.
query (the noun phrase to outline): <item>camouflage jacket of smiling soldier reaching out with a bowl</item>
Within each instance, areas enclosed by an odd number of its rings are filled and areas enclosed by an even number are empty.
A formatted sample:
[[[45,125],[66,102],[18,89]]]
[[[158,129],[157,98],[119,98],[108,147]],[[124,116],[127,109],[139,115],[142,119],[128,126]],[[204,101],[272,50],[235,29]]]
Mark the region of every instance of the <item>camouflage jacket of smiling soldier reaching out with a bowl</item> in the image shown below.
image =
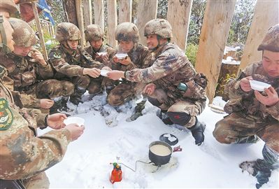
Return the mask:
[[[127,80],[155,83],[166,91],[174,101],[180,99],[206,100],[206,78],[196,73],[185,53],[174,43],[167,43],[156,50],[156,60],[145,69],[134,69],[125,73]],[[186,92],[178,90],[179,83],[186,83]]]

